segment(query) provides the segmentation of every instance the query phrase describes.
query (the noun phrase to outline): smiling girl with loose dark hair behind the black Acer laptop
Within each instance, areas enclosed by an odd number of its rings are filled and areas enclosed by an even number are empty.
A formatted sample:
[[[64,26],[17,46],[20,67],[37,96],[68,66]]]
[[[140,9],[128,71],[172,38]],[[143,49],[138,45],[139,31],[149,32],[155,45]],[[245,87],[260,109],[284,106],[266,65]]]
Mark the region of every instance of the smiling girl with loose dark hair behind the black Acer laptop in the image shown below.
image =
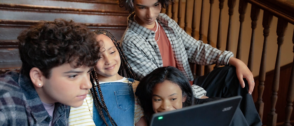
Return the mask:
[[[194,98],[188,79],[179,69],[172,66],[157,68],[147,74],[140,81],[135,94],[148,124],[153,113],[167,112],[222,99],[218,97]],[[247,121],[238,107],[230,126],[262,125],[259,117],[251,116],[250,119],[251,121]]]

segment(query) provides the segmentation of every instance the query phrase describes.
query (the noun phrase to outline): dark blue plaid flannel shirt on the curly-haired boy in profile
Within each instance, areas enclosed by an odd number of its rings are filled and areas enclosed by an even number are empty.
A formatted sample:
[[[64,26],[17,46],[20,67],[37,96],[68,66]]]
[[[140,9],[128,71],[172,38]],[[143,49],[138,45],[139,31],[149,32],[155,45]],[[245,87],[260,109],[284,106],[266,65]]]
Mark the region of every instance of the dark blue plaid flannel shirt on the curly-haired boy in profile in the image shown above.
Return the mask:
[[[0,125],[68,125],[69,106],[55,103],[51,117],[45,110],[31,79],[9,71],[0,75]]]

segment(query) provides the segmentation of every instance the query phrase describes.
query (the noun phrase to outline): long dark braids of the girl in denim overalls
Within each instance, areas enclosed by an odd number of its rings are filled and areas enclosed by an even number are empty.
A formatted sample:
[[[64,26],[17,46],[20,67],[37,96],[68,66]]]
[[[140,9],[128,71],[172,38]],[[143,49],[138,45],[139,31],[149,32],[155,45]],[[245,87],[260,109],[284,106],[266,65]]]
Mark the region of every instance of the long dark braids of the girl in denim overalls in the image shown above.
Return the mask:
[[[118,74],[123,77],[133,78],[136,80],[136,75],[135,75],[134,71],[132,70],[131,65],[126,60],[126,56],[124,55],[124,53],[121,49],[121,46],[119,46],[119,43],[116,41],[114,36],[109,31],[103,30],[103,29],[98,29],[98,30],[94,31],[94,33],[96,33],[97,35],[99,35],[99,34],[106,35],[113,41],[113,44],[117,48],[119,56],[121,58],[121,65],[118,69]],[[126,76],[125,76],[125,73],[126,73]],[[103,95],[101,92],[99,80],[97,78],[97,73],[96,73],[95,69],[91,71],[90,80],[92,83],[92,88],[90,89],[90,91],[92,93],[93,102],[99,112],[99,115],[102,117],[102,120],[105,122],[106,126],[108,126],[106,119],[105,119],[105,116],[103,114],[103,110],[104,110],[106,112],[110,122],[111,122],[111,125],[117,126],[116,122],[110,116],[108,109],[106,107],[106,104],[104,102],[104,98],[103,98]],[[98,92],[96,90],[96,87],[97,87]],[[99,93],[100,99],[98,97],[98,93]]]

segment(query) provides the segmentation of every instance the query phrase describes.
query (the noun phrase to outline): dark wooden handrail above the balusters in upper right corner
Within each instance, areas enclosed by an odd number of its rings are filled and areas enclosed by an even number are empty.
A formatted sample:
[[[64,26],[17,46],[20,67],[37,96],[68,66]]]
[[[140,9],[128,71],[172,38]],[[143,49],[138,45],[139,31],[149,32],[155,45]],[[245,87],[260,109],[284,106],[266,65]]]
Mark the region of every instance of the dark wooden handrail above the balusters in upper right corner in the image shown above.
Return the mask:
[[[276,17],[283,18],[294,24],[294,3],[287,0],[246,0],[250,4],[266,10]]]

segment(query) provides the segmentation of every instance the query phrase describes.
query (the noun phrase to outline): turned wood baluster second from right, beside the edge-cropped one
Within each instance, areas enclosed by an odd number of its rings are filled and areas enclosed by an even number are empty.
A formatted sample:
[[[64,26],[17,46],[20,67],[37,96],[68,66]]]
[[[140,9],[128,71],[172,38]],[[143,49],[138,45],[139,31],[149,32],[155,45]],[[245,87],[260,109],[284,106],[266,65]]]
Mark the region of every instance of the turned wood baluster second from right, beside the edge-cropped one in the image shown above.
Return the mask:
[[[277,123],[277,113],[275,113],[275,105],[278,100],[278,90],[279,90],[279,81],[280,81],[280,60],[281,60],[281,51],[282,51],[282,44],[284,42],[284,36],[287,30],[288,22],[282,18],[278,18],[278,25],[277,25],[277,35],[278,35],[278,52],[277,58],[275,63],[275,73],[273,78],[273,85],[272,85],[272,96],[271,96],[271,109],[268,113],[268,124],[267,126],[275,126]]]

